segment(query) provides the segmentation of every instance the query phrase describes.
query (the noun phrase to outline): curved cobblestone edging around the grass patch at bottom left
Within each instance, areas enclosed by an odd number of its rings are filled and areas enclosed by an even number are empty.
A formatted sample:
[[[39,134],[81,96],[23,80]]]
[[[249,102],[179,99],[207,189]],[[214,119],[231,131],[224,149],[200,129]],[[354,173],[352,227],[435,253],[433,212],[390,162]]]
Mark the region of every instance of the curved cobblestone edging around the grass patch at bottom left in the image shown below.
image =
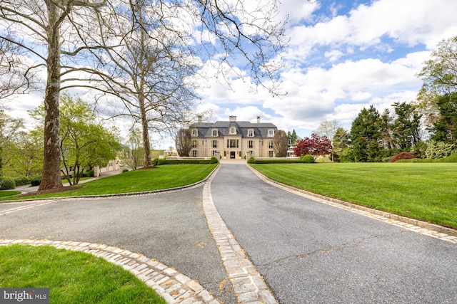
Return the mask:
[[[147,258],[139,253],[108,246],[99,243],[82,243],[73,241],[48,241],[48,240],[0,240],[0,246],[11,244],[31,246],[54,246],[59,249],[83,251],[94,256],[104,258],[106,261],[122,266],[146,285],[156,290],[167,303],[170,304],[220,304],[211,293],[199,283],[184,276],[178,271],[154,259]]]

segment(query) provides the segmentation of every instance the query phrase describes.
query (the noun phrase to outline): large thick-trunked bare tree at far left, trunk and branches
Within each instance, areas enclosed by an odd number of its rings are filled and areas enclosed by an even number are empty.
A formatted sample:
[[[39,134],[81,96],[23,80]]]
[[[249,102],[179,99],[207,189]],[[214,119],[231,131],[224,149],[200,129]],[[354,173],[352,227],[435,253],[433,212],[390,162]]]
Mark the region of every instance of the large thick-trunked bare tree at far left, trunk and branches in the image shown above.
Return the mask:
[[[61,85],[75,81],[71,57],[91,48],[82,42],[84,29],[90,31],[88,16],[105,4],[99,0],[0,0],[0,19],[8,31],[0,39],[9,41],[35,61],[29,70],[45,67],[47,73],[44,96],[44,165],[39,189],[61,187],[59,150],[59,93]],[[44,2],[44,3],[43,3]],[[84,28],[84,29],[83,29]],[[18,37],[26,37],[21,40]],[[66,79],[62,79],[66,77]],[[71,84],[69,86],[72,86]]]

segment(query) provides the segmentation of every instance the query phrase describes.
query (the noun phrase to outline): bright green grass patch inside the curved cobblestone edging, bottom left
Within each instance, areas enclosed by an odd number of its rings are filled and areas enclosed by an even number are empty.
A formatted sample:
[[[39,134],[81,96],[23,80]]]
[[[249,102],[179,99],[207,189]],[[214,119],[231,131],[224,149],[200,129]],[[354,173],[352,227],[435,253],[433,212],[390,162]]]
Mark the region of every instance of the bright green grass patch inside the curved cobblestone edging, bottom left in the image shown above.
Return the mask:
[[[166,303],[121,266],[51,246],[0,246],[0,286],[49,288],[49,303]]]

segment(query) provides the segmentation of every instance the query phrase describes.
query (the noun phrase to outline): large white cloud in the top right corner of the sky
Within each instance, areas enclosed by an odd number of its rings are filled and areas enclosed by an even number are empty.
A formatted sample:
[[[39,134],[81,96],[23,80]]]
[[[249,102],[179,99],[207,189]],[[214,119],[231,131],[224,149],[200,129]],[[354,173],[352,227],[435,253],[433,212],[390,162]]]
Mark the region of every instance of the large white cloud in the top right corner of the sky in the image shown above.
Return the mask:
[[[314,46],[379,47],[384,38],[433,49],[441,39],[455,35],[456,11],[457,1],[448,0],[381,0],[371,6],[361,4],[348,15],[291,28],[291,54],[308,56]]]

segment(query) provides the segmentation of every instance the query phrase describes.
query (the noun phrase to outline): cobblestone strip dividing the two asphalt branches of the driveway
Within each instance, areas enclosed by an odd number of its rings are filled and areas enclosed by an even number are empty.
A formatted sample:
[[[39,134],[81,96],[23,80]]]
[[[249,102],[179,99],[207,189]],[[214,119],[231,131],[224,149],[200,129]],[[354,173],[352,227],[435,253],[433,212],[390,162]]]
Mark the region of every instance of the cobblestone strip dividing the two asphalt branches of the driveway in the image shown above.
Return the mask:
[[[229,274],[238,303],[278,303],[216,210],[211,196],[213,177],[214,174],[204,185],[203,207],[209,229],[221,253],[222,262]]]

